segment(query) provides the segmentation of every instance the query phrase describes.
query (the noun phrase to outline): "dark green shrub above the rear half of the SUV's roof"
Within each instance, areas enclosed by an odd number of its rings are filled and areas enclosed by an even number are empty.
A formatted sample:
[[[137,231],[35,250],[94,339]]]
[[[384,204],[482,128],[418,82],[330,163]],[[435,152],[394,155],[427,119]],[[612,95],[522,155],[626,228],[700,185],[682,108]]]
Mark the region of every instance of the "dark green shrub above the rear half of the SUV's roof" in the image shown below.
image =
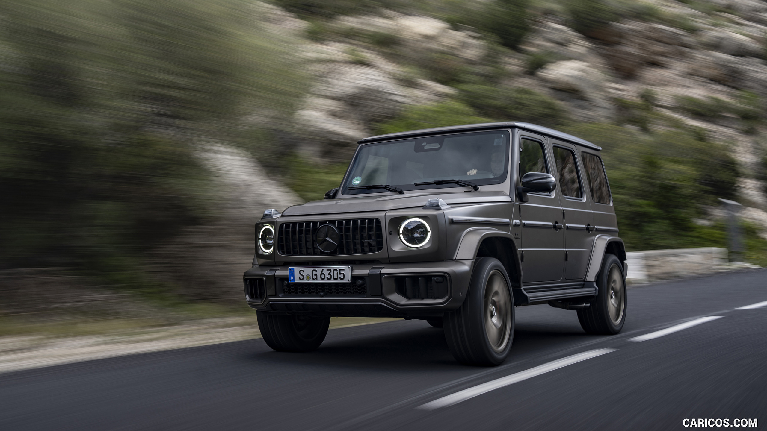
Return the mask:
[[[464,103],[494,120],[529,121],[545,126],[568,122],[567,111],[557,101],[524,87],[463,84],[457,88]]]

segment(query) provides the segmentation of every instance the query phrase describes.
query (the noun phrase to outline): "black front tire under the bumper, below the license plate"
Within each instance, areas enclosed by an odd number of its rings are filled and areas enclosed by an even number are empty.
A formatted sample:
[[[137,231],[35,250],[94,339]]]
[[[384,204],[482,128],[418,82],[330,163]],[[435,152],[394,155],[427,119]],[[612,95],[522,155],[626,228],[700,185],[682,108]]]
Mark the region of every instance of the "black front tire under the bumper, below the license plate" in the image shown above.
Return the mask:
[[[328,334],[330,317],[301,314],[268,314],[256,311],[258,329],[269,347],[278,352],[309,352]]]

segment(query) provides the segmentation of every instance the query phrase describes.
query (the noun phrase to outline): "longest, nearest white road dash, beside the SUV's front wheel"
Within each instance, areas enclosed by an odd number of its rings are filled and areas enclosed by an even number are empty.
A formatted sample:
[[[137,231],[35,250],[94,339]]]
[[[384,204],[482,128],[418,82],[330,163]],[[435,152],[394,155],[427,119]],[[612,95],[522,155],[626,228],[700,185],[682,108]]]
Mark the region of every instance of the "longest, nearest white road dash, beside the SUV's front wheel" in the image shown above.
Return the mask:
[[[530,377],[539,376],[543,373],[548,373],[549,371],[557,370],[558,368],[561,368],[561,367],[567,367],[568,365],[581,362],[581,360],[591,359],[592,357],[597,357],[603,354],[607,354],[615,350],[617,349],[589,350],[588,352],[583,352],[582,354],[575,354],[573,356],[563,357],[562,359],[551,361],[548,364],[539,365],[538,367],[534,367],[529,370],[520,371],[518,373],[514,373],[506,377],[501,377],[500,379],[495,379],[487,383],[482,383],[480,385],[477,385],[476,387],[470,387],[469,389],[461,390],[459,392],[452,393],[448,396],[443,396],[442,398],[439,398],[438,400],[433,400],[433,401],[430,401],[429,403],[418,406],[416,407],[416,409],[436,410],[436,409],[439,409],[440,407],[452,406],[453,404],[457,404],[462,401],[469,400],[469,398],[474,398],[475,396],[482,395],[482,393],[490,392],[491,390],[496,390],[505,386],[509,386],[512,383],[521,382],[522,380],[527,380]]]

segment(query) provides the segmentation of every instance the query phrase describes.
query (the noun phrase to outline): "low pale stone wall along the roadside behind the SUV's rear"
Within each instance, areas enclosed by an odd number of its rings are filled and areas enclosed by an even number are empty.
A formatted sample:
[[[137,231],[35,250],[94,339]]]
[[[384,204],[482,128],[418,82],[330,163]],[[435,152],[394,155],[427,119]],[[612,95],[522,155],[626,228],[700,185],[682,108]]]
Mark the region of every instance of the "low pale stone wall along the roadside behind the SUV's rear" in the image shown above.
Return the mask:
[[[727,259],[727,249],[718,247],[627,252],[626,263],[628,265],[626,281],[629,283],[702,275],[725,271],[733,266]]]

